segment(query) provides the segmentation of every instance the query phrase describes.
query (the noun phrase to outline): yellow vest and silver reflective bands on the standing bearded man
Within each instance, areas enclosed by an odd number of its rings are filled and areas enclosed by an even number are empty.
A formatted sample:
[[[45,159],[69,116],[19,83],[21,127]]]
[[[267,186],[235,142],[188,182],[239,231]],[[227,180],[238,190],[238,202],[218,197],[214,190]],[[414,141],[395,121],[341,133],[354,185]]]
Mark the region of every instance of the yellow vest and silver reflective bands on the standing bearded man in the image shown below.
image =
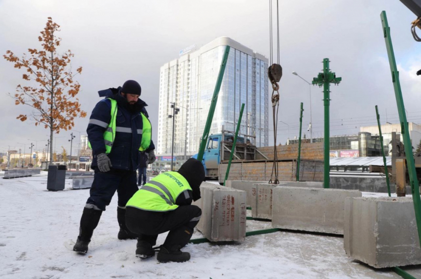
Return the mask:
[[[106,126],[106,130],[104,132],[104,144],[105,144],[105,154],[109,154],[111,152],[112,143],[114,142],[115,138],[115,132],[122,132],[122,133],[131,133],[132,129],[127,127],[116,127],[116,115],[117,115],[117,101],[114,99],[110,99],[111,102],[111,120],[109,121],[108,125]],[[143,114],[140,113],[142,116],[142,123],[143,123],[143,129],[137,129],[138,135],[142,135],[142,141],[140,142],[139,151],[144,151],[149,148],[151,145],[151,139],[152,139],[152,126],[151,121]],[[91,119],[89,120],[89,123],[96,124],[101,127],[105,128],[106,123],[101,120]],[[90,149],[91,143],[88,142],[88,146]]]

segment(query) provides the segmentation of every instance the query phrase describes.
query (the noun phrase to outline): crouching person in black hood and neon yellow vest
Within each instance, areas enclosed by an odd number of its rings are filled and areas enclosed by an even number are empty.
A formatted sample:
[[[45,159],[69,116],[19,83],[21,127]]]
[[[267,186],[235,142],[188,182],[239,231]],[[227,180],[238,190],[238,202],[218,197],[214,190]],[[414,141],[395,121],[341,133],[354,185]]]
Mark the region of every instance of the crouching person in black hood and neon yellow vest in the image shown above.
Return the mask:
[[[158,234],[168,232],[157,259],[161,263],[186,262],[190,254],[182,252],[199,223],[202,210],[191,205],[200,199],[200,184],[205,169],[197,159],[188,159],[178,171],[159,174],[143,185],[126,204],[127,228],[139,235],[136,257],[155,256],[153,246]]]

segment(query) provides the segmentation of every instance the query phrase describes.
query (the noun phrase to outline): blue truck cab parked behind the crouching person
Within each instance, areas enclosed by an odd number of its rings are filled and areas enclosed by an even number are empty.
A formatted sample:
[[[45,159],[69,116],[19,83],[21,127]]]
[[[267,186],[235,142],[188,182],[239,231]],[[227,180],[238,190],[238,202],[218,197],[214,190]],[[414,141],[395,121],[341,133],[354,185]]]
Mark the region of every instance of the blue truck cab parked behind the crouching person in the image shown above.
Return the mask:
[[[224,142],[232,143],[233,134],[224,133]],[[244,143],[243,137],[237,137],[237,143]],[[221,162],[222,134],[212,134],[208,138],[202,163],[205,166],[206,178],[218,178],[218,165]],[[232,146],[232,144],[231,144]],[[192,158],[197,159],[195,154]]]

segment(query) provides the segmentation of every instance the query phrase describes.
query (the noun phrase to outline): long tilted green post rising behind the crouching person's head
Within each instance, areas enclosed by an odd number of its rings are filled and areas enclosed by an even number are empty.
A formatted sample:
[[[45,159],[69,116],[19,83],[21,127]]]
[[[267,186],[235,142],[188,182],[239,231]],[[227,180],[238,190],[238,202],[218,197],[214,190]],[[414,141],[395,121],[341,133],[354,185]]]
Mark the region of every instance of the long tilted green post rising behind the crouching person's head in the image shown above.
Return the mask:
[[[225,48],[224,55],[222,57],[221,67],[219,68],[218,79],[216,80],[215,90],[213,91],[213,97],[211,100],[211,107],[209,108],[208,119],[206,120],[205,130],[203,131],[202,141],[200,143],[199,153],[197,159],[202,161],[203,155],[205,153],[206,143],[208,142],[209,131],[211,130],[211,124],[213,119],[213,114],[216,108],[216,102],[218,101],[219,89],[221,88],[222,78],[224,77],[226,61],[228,60],[230,46],[227,45]]]

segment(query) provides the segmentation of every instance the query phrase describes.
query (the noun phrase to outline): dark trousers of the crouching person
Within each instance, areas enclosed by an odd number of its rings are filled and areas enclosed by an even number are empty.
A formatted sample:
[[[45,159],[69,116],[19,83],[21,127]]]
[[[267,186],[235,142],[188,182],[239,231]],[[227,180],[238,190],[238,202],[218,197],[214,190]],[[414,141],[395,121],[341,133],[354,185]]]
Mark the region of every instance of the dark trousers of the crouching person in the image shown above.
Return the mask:
[[[152,246],[157,244],[159,234],[169,231],[163,246],[184,247],[189,243],[201,215],[202,210],[196,205],[182,205],[175,210],[165,212],[146,211],[127,206],[126,225],[131,232],[140,235],[139,240],[147,241]]]

